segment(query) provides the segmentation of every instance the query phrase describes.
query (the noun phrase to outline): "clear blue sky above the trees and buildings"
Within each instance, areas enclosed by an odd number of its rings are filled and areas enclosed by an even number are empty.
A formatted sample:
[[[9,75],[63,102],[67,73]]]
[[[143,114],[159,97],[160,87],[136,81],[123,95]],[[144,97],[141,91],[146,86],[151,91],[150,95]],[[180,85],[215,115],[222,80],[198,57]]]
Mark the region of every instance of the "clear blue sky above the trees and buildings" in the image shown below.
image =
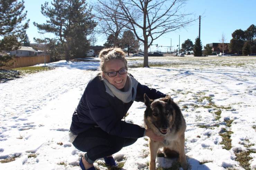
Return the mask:
[[[49,3],[51,0],[47,0]],[[37,32],[37,28],[33,22],[45,23],[46,18],[41,14],[41,4],[45,1],[25,0],[25,10],[28,11],[27,18],[30,19],[29,28],[27,30],[28,37],[33,43],[33,37],[53,37],[51,34],[41,35]],[[89,1],[90,2],[90,1]],[[236,29],[246,30],[251,24],[256,25],[256,0],[189,0],[184,7],[188,13],[194,13],[201,18],[201,41],[203,46],[207,43],[219,42],[222,33],[226,37],[226,42],[229,42],[231,33]],[[191,26],[164,34],[154,41],[153,44],[158,46],[180,46],[186,39],[191,39],[194,43],[195,38],[199,34],[199,21],[195,21]],[[106,42],[104,36],[98,37],[96,45],[103,45]],[[152,46],[149,51],[166,51],[166,47]],[[170,49],[169,49],[170,50]]]

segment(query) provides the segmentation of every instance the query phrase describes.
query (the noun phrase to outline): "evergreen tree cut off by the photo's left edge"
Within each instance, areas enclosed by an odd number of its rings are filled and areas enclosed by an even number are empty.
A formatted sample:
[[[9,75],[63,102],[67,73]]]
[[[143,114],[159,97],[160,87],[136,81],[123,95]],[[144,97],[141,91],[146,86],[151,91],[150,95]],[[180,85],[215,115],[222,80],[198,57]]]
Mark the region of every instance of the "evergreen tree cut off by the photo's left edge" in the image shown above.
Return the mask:
[[[23,13],[24,0],[0,0],[0,51],[17,49],[28,28],[27,11]],[[23,22],[23,23],[21,23]]]

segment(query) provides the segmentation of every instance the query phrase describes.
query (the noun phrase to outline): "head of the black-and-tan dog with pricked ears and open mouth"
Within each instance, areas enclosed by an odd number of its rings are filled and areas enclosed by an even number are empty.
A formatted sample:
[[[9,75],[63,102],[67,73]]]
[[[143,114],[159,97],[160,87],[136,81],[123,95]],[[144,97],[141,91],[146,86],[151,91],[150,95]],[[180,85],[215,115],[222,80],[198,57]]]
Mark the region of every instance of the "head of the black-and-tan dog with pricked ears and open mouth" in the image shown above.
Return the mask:
[[[171,97],[166,95],[165,98],[151,100],[144,94],[144,103],[147,107],[144,118],[148,120],[147,122],[152,123],[161,134],[167,134],[175,113]]]

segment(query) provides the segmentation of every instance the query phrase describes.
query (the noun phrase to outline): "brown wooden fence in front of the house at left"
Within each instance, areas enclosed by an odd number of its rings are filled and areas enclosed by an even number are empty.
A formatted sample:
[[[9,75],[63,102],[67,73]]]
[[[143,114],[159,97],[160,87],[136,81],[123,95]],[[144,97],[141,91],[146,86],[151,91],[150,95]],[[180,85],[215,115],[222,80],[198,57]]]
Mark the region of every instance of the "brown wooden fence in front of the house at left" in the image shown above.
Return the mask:
[[[36,64],[44,63],[44,56],[33,56],[33,57],[16,57],[10,60],[8,63],[14,64],[12,66],[2,66],[0,69],[13,69],[17,67],[28,67]],[[45,56],[45,63],[51,62],[50,56]]]

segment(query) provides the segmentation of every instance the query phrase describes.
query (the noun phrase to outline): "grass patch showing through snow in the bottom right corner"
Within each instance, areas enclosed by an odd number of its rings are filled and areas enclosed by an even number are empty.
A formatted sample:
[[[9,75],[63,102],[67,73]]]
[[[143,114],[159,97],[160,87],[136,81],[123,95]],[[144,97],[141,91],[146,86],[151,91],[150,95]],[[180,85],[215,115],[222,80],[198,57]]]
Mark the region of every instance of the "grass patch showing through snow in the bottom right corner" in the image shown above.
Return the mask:
[[[246,152],[239,152],[239,153],[235,153],[236,155],[236,161],[239,162],[239,165],[241,167],[243,167],[245,170],[250,170],[250,163],[249,161],[251,159],[253,159],[252,157],[250,157],[250,153],[255,153],[255,151],[253,152],[252,150],[246,151]]]

